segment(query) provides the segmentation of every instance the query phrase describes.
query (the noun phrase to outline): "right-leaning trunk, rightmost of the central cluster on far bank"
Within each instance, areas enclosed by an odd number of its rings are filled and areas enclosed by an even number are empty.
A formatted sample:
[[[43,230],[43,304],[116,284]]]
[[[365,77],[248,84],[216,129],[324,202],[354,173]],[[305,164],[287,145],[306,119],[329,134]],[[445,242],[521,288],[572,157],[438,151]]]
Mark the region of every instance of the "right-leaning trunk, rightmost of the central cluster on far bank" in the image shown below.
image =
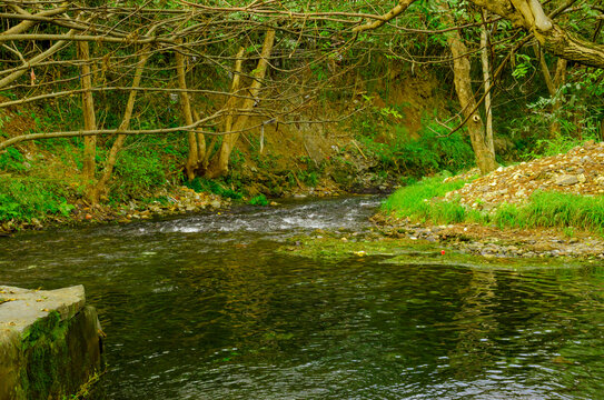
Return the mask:
[[[244,100],[244,103],[241,106],[241,110],[244,111],[251,110],[255,103],[259,101],[259,99],[257,99],[257,96],[260,91],[263,80],[266,76],[268,59],[270,58],[270,52],[273,51],[274,44],[275,30],[269,29],[266,32],[263,50],[260,52],[260,60],[258,61],[258,66],[256,67],[253,74],[254,82],[251,82],[250,87],[248,88],[248,94],[250,98]],[[239,139],[239,131],[245,128],[248,118],[249,117],[246,114],[239,116],[231,127],[232,131],[236,133],[229,133],[222,137],[222,144],[220,146],[220,150],[218,151],[217,156],[212,158],[211,163],[206,171],[207,178],[217,178],[228,172],[228,160],[230,153],[235,147],[235,143],[237,142],[237,139]]]

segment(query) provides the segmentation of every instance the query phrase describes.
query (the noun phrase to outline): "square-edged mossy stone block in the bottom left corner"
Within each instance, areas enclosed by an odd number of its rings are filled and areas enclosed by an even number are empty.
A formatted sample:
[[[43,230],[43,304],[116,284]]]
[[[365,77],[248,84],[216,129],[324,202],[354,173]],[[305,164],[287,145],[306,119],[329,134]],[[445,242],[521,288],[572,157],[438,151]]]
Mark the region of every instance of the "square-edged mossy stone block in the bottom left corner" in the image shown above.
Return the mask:
[[[67,399],[103,369],[103,334],[83,287],[0,286],[0,399]]]

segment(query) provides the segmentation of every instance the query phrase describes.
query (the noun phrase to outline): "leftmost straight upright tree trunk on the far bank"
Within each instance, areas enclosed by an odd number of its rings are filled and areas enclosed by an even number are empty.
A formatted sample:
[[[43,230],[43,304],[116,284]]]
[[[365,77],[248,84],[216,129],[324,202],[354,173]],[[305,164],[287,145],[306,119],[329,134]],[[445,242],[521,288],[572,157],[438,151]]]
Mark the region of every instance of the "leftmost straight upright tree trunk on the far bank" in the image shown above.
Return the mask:
[[[80,50],[80,57],[82,59],[81,68],[81,84],[85,90],[82,93],[82,108],[83,108],[83,128],[85,130],[96,130],[97,119],[95,116],[95,101],[92,98],[92,76],[90,73],[90,48],[88,42],[82,41],[78,43]],[[90,136],[83,138],[83,176],[86,179],[95,179],[95,170],[97,167],[97,137]]]

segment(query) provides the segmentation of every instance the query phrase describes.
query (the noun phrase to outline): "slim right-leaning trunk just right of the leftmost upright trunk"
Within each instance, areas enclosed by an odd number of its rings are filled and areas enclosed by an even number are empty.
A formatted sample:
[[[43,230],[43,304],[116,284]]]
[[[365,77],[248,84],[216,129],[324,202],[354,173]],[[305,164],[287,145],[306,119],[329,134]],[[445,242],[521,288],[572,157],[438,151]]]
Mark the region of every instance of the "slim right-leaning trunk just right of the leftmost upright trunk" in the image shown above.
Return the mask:
[[[137,69],[135,71],[135,79],[132,80],[132,88],[138,88],[140,86],[140,80],[142,77],[142,71],[145,69],[145,64],[147,63],[147,60],[149,59],[149,47],[146,47],[141,51],[140,59],[138,61]],[[132,89],[130,90],[130,96],[128,97],[128,103],[126,104],[126,110],[123,112],[123,118],[121,120],[121,123],[118,128],[118,131],[125,131],[128,130],[130,127],[130,119],[132,118],[132,110],[135,109],[135,102],[137,98],[137,90]],[[113,142],[113,146],[111,146],[111,150],[109,151],[109,157],[107,158],[107,163],[105,164],[105,169],[102,171],[102,177],[99,179],[95,188],[92,189],[90,193],[90,199],[93,203],[99,202],[100,196],[107,191],[107,182],[109,182],[109,179],[111,179],[111,174],[113,173],[113,168],[116,167],[116,162],[118,161],[118,153],[123,147],[123,142],[126,141],[126,134],[121,133],[118,134],[118,138]]]

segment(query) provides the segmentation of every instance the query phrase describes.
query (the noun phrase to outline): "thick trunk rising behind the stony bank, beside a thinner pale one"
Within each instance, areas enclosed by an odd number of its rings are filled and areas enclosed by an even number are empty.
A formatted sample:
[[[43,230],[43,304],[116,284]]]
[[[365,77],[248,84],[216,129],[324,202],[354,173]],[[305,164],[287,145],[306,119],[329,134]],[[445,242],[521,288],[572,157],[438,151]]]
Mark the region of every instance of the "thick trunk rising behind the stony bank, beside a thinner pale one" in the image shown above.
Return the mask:
[[[449,24],[454,26],[450,10],[446,2],[439,3],[440,10],[443,10],[443,18]],[[462,36],[458,30],[447,32],[447,42],[453,53],[453,72],[455,81],[455,90],[457,98],[459,99],[459,106],[462,106],[462,112],[467,118],[467,129],[469,132],[469,139],[472,141],[472,148],[476,157],[476,164],[482,174],[486,174],[497,168],[495,161],[495,151],[489,149],[486,140],[483,119],[477,112],[476,99],[472,90],[471,80],[471,63],[468,58],[467,47],[464,44]]]

